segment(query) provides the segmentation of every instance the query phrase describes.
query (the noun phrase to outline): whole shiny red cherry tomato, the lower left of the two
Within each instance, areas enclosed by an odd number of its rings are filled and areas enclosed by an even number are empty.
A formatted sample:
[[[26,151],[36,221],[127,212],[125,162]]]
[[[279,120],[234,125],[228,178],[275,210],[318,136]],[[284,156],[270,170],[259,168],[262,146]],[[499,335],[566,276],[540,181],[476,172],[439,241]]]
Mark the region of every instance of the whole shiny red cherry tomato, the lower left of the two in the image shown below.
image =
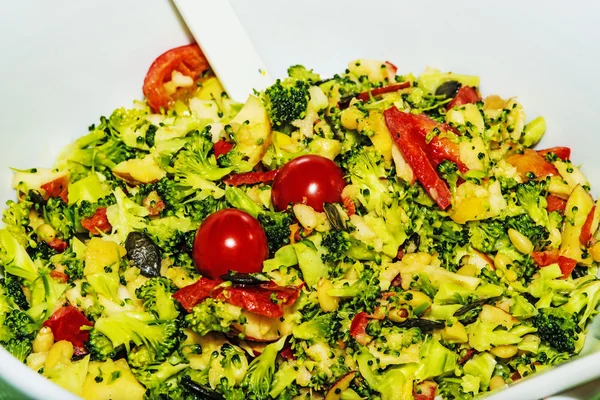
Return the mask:
[[[260,223],[236,209],[217,211],[206,218],[198,228],[192,251],[198,271],[212,279],[229,270],[260,272],[268,255],[267,236]]]

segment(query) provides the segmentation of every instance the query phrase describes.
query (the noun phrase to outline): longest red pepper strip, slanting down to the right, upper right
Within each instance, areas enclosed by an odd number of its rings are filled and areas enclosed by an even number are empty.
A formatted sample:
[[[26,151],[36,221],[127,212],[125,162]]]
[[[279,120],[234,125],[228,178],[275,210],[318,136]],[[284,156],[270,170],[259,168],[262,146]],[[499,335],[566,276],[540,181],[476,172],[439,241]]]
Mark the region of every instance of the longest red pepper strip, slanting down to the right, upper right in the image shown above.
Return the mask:
[[[401,112],[395,107],[385,110],[383,114],[393,139],[417,180],[442,210],[448,208],[452,202],[452,194],[427,158],[425,138],[419,134],[419,121],[422,119],[414,114]]]

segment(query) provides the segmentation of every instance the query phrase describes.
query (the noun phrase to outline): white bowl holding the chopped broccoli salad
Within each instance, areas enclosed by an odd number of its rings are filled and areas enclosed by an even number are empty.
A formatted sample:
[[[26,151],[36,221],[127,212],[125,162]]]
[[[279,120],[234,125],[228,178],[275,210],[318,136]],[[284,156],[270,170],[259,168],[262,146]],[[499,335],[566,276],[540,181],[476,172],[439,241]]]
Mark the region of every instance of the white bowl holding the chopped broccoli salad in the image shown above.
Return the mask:
[[[600,194],[595,132],[600,3],[232,3],[275,77],[292,64],[327,76],[355,58],[389,60],[402,72],[434,66],[479,75],[484,94],[518,96],[529,118],[543,115],[548,133],[542,145],[570,146],[593,193]],[[206,18],[211,18],[208,9]],[[215,34],[226,35],[227,27]],[[100,115],[141,97],[144,75],[156,56],[190,41],[166,0],[5,4],[0,13],[2,201],[14,196],[8,166],[50,166],[60,147],[86,133]],[[232,62],[243,60],[232,54]],[[540,398],[579,385],[600,376],[599,363],[600,353],[574,360],[498,398]],[[3,349],[0,377],[33,398],[73,398]],[[0,384],[0,398],[24,397],[17,393]]]

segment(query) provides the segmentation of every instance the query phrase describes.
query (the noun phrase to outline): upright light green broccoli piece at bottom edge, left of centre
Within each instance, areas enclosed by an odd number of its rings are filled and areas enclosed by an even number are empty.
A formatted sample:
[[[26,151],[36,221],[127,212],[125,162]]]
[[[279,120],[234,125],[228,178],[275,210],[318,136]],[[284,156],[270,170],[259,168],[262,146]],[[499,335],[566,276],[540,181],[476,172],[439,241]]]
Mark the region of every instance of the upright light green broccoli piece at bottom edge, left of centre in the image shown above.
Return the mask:
[[[248,366],[248,373],[242,381],[242,389],[251,400],[269,398],[269,390],[275,373],[277,354],[285,344],[285,337],[265,347],[260,356],[256,357]]]

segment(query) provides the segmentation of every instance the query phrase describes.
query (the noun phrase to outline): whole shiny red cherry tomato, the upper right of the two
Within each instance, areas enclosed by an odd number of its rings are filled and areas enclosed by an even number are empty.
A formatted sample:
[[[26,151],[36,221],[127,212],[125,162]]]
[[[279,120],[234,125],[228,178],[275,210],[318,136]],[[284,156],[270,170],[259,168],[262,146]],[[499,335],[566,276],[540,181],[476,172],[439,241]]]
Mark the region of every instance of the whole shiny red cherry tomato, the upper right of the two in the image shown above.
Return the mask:
[[[321,212],[323,203],[342,201],[344,186],[344,174],[336,163],[321,156],[301,156],[279,170],[271,199],[278,211],[285,210],[290,203],[304,203]]]

